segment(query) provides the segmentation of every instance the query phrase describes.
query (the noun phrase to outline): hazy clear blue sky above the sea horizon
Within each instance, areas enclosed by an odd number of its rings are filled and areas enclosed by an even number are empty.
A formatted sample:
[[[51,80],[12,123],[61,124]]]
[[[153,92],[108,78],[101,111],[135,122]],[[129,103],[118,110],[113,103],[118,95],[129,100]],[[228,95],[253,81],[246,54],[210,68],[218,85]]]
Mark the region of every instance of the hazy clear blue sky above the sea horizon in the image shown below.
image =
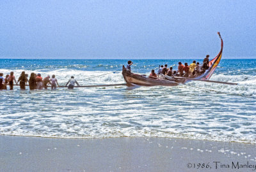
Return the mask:
[[[1,58],[256,57],[256,1],[1,0]],[[211,56],[211,57],[212,57]]]

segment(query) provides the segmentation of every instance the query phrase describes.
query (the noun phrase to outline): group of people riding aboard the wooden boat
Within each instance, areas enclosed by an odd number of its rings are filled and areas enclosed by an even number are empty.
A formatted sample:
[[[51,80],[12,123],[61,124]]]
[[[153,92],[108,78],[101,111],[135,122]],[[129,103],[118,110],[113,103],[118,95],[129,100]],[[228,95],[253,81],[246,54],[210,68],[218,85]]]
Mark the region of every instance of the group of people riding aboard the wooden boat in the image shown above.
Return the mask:
[[[127,70],[131,71],[132,61],[128,61]],[[168,76],[181,76],[181,77],[189,77],[193,78],[202,73],[205,73],[205,70],[209,69],[209,55],[206,55],[203,64],[199,64],[199,62],[193,61],[190,65],[187,62],[183,65],[182,62],[179,62],[179,66],[177,71],[174,71],[172,67],[168,68],[168,65],[161,65],[161,68],[158,70],[158,75],[168,75]],[[148,78],[157,78],[157,74],[155,70],[152,69]]]

